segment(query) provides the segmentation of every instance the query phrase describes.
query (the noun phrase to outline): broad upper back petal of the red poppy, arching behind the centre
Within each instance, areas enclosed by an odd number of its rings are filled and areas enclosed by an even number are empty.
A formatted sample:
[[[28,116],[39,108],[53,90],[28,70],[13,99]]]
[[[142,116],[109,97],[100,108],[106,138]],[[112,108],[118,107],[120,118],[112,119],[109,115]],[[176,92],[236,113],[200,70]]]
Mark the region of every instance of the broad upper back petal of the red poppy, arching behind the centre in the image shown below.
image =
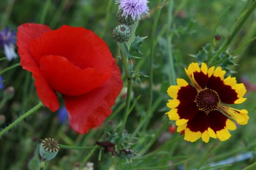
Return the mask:
[[[37,63],[43,56],[55,55],[67,58],[81,69],[91,67],[110,72],[112,67],[108,45],[81,27],[62,26],[45,33],[30,43],[30,50]]]

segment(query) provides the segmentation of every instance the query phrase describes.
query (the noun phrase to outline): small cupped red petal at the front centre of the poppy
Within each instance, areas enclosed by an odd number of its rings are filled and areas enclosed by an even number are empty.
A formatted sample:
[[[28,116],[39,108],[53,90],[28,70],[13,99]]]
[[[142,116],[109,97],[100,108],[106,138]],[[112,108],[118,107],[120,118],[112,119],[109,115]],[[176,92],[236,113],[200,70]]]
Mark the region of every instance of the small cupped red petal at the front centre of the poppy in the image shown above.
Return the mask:
[[[77,96],[91,91],[101,86],[111,76],[96,68],[82,70],[64,57],[52,55],[41,58],[40,69],[55,91],[68,96]]]

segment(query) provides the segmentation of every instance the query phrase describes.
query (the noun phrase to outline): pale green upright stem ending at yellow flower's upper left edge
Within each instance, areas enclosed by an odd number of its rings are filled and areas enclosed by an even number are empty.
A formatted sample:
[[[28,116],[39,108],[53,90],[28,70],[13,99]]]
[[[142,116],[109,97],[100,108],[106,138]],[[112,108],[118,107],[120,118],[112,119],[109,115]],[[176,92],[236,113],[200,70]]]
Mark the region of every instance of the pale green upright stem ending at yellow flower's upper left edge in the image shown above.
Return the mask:
[[[170,84],[175,84],[176,82],[176,72],[175,72],[174,58],[173,58],[173,52],[172,52],[172,34],[171,34],[172,20],[173,20],[173,7],[174,7],[174,2],[173,0],[170,0],[169,6],[168,6],[167,32],[166,32],[168,61],[171,69],[170,72],[172,73],[171,75],[169,75]]]

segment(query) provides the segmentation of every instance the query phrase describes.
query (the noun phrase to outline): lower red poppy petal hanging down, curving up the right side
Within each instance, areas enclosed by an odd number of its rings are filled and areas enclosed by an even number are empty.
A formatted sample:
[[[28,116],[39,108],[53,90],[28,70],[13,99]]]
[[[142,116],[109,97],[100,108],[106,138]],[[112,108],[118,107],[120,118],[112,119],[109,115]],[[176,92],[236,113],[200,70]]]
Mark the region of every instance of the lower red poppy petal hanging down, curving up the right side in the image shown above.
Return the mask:
[[[98,127],[112,113],[111,107],[123,85],[120,70],[115,60],[112,61],[112,77],[101,87],[77,97],[63,95],[70,125],[79,133]]]

